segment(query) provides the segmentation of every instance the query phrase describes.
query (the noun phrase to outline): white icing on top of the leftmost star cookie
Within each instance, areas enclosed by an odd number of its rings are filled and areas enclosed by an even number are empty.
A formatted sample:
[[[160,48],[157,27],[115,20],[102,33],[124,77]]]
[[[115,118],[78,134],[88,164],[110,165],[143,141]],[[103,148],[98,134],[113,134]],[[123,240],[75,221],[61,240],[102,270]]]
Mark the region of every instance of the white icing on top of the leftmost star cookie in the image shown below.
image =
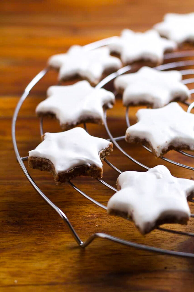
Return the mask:
[[[57,174],[80,165],[95,164],[102,168],[98,153],[110,144],[77,127],[60,133],[45,133],[44,141],[29,151],[29,156],[49,159]]]

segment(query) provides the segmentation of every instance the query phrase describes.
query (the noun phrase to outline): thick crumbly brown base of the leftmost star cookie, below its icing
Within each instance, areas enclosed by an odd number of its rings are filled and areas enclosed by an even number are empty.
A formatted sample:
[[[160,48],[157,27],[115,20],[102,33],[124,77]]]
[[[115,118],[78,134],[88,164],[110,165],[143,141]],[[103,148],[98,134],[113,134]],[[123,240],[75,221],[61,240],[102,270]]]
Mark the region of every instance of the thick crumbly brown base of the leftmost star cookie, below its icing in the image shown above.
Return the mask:
[[[100,159],[103,160],[112,151],[113,144],[110,142],[108,147],[99,152]],[[92,178],[102,178],[103,173],[103,169],[101,167],[92,164],[91,166],[88,165],[76,166],[69,171],[64,171],[57,174],[55,171],[54,164],[49,159],[34,156],[28,157],[28,165],[31,168],[39,169],[41,171],[49,171],[50,173],[52,173],[56,185],[60,185],[61,183],[69,181],[72,178],[75,178],[76,176],[80,175],[91,176]]]

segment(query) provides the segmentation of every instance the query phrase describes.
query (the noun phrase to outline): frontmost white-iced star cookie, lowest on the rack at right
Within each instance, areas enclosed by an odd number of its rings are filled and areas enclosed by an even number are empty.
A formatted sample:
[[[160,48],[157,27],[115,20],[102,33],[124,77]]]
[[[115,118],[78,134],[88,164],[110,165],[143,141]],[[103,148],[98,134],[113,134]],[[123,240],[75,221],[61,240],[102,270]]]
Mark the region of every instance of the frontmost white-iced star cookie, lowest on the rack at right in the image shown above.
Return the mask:
[[[131,218],[142,234],[164,223],[189,220],[187,200],[194,195],[194,181],[172,176],[163,165],[146,172],[125,171],[117,188],[108,201],[108,214]]]

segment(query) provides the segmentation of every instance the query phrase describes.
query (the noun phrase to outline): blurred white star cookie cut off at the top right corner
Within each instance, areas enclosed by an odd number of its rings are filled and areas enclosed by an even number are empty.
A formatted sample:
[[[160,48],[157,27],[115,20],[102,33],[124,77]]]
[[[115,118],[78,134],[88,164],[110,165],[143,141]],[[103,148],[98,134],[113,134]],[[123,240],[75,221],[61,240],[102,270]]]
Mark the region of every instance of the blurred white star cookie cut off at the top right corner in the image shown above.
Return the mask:
[[[194,13],[177,14],[167,13],[163,22],[153,27],[161,36],[177,42],[179,45],[185,41],[194,42]]]

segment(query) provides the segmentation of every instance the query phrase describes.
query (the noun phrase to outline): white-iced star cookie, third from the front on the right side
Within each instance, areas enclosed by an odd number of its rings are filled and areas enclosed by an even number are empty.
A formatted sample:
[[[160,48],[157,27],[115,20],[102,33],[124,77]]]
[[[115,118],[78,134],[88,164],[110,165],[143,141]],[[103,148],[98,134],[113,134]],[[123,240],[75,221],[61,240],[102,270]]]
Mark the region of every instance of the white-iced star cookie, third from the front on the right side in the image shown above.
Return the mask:
[[[181,83],[179,71],[158,71],[142,67],[136,73],[118,76],[116,90],[123,93],[123,105],[150,105],[163,107],[172,100],[184,101],[190,97],[186,85]]]

